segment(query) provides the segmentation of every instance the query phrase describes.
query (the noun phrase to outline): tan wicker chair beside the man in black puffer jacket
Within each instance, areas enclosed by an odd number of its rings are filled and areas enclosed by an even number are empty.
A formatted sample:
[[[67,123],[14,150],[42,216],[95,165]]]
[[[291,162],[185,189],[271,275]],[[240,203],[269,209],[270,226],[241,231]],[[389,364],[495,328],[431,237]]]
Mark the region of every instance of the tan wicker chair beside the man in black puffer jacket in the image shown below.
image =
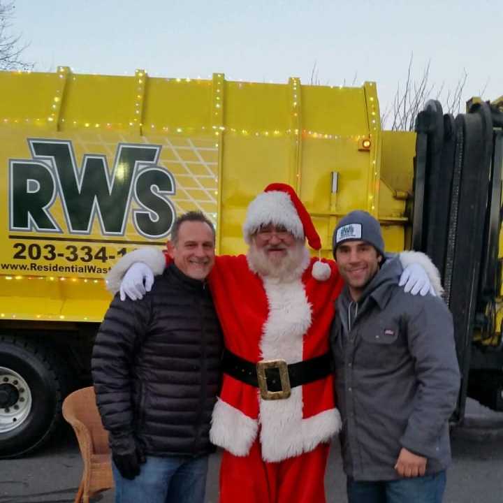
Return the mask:
[[[89,386],[68,395],[63,402],[63,416],[77,435],[84,462],[75,503],[89,503],[89,497],[114,486],[108,432],[101,423],[94,388]]]

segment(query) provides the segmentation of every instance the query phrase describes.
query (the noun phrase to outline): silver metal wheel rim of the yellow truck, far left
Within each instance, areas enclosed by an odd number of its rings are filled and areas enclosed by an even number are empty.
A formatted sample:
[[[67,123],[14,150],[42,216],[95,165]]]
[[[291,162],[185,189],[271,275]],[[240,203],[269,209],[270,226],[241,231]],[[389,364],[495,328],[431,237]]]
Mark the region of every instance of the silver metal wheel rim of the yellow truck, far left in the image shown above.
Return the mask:
[[[19,428],[31,411],[31,391],[20,374],[0,367],[0,433]]]

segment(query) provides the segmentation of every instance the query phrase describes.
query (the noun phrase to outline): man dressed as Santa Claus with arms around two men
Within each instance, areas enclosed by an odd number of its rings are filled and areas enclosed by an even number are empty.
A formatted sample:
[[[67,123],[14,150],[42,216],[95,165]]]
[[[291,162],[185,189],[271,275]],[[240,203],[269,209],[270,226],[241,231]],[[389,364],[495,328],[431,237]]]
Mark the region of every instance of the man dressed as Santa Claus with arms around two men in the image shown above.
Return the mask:
[[[325,502],[328,443],[341,426],[328,333],[343,281],[335,262],[310,258],[305,240],[315,250],[321,241],[288,185],[270,184],[250,203],[243,231],[247,255],[218,256],[208,277],[226,346],[210,432],[224,449],[220,501]],[[426,264],[439,286],[428,258],[401,259]],[[158,249],[133,251],[112,269],[109,287],[138,262],[155,275],[166,264]],[[145,265],[135,267],[129,284],[138,296]]]

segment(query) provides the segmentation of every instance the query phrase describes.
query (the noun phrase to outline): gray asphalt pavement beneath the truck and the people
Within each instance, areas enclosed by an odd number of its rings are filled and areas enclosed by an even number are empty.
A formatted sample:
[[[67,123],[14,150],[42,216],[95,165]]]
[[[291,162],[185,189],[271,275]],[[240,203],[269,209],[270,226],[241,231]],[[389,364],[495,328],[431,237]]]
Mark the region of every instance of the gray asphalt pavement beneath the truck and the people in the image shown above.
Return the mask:
[[[469,400],[465,425],[453,430],[452,446],[453,465],[444,503],[502,503],[503,413]],[[218,471],[219,453],[210,459],[207,503],[218,501]],[[71,503],[81,474],[82,461],[73,431],[61,428],[38,453],[0,460],[0,503]],[[337,441],[330,452],[325,486],[329,503],[347,503]],[[113,490],[92,501],[113,503]]]

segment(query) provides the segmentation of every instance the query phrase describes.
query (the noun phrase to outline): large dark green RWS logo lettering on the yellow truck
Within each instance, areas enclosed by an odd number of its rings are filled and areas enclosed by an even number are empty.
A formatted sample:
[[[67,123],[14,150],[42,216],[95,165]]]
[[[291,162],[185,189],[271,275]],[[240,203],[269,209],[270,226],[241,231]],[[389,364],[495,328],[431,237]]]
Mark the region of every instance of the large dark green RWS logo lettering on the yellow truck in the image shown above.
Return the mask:
[[[103,155],[87,154],[79,169],[71,141],[29,139],[33,159],[9,160],[10,231],[62,233],[51,214],[59,196],[68,233],[89,234],[94,218],[105,236],[124,235],[131,199],[133,225],[145,238],[168,235],[175,180],[156,166],[160,145],[119,143],[112,173]]]

